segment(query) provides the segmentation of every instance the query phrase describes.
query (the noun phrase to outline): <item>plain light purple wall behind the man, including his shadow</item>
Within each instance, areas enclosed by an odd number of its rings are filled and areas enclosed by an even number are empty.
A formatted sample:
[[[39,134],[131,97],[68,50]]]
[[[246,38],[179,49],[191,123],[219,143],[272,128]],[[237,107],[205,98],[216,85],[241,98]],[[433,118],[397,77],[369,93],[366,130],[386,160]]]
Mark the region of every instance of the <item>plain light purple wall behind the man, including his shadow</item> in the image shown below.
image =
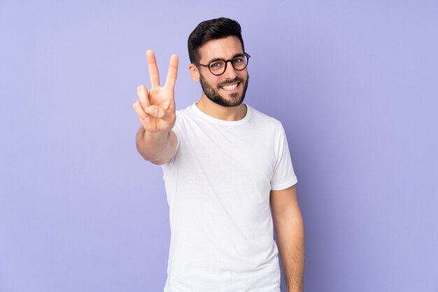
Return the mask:
[[[36,3],[38,2],[38,3]],[[281,120],[307,292],[438,291],[437,1],[1,1],[0,291],[162,291],[169,207],[132,110],[188,34],[243,27],[246,102]],[[284,279],[282,291],[286,292]]]

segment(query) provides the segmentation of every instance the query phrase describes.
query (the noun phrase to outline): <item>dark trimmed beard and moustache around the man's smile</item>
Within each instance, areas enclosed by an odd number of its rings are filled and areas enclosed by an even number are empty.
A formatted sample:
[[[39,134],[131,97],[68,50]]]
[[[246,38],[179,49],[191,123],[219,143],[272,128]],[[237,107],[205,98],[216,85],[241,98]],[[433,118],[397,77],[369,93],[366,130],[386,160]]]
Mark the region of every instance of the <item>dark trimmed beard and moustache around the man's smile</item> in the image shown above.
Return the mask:
[[[201,81],[201,87],[202,90],[204,91],[204,94],[206,95],[206,97],[209,97],[209,99],[212,102],[219,104],[220,106],[232,107],[232,106],[238,106],[243,102],[243,99],[245,99],[246,88],[248,88],[249,75],[246,77],[246,81],[244,81],[244,83],[242,78],[237,77],[233,80],[222,82],[217,86],[217,88],[219,89],[221,86],[227,85],[229,83],[236,83],[236,82],[239,82],[239,86],[243,85],[242,94],[240,95],[239,92],[230,93],[228,96],[231,97],[231,99],[225,99],[224,97],[222,97],[218,93],[218,90],[215,90],[213,86],[211,86],[204,79],[204,76],[202,76],[202,74],[199,75],[199,81]]]

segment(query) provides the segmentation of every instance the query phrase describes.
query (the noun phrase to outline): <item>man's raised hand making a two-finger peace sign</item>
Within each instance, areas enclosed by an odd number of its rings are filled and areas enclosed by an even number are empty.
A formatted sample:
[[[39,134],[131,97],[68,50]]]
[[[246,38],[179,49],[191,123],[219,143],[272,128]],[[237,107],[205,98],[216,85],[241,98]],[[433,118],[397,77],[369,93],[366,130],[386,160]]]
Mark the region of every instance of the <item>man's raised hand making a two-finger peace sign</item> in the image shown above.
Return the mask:
[[[160,86],[157,60],[152,50],[146,52],[146,58],[151,88],[148,90],[145,85],[137,87],[139,100],[133,104],[134,111],[146,131],[168,132],[174,127],[176,120],[174,88],[178,74],[178,56],[174,54],[170,57],[166,84],[163,87]]]

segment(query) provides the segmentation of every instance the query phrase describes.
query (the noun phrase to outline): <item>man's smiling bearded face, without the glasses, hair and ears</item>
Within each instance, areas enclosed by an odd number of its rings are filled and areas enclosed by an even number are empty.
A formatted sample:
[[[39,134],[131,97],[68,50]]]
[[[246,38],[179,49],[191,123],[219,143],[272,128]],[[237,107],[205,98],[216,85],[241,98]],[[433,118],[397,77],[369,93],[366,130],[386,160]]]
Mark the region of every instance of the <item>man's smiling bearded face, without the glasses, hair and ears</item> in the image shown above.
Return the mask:
[[[236,55],[243,54],[243,49],[236,36],[228,36],[225,39],[211,40],[199,48],[201,64],[209,64],[212,60],[231,60]],[[220,106],[238,106],[245,98],[248,88],[248,70],[237,71],[227,62],[224,74],[215,76],[206,67],[199,67],[199,81],[201,81],[204,94],[212,102]]]

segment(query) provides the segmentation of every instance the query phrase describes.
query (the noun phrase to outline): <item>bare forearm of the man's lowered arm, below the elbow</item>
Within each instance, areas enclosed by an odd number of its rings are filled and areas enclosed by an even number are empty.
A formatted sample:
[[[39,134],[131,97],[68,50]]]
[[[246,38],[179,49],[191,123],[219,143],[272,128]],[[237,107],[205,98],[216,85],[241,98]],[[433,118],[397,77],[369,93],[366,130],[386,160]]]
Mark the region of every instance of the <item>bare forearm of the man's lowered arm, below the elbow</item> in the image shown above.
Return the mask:
[[[288,292],[303,291],[304,223],[302,214],[276,220],[277,244],[280,251]]]

